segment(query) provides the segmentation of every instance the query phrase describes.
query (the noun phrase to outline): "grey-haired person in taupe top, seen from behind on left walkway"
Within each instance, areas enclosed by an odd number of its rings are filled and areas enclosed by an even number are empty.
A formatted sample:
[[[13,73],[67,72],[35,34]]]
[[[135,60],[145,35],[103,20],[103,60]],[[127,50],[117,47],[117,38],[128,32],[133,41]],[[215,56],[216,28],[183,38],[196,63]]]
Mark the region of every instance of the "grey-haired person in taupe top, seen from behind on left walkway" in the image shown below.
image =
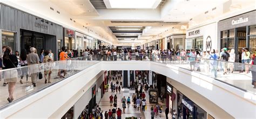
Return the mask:
[[[30,48],[30,53],[28,54],[28,57],[26,57],[26,61],[28,61],[28,65],[29,67],[29,72],[30,72],[30,77],[31,77],[31,82],[33,87],[36,87],[36,81],[37,81],[37,74],[39,72],[39,68],[38,65],[39,64],[39,57],[36,54],[36,48],[35,47],[31,47]],[[34,65],[34,66],[32,66]]]

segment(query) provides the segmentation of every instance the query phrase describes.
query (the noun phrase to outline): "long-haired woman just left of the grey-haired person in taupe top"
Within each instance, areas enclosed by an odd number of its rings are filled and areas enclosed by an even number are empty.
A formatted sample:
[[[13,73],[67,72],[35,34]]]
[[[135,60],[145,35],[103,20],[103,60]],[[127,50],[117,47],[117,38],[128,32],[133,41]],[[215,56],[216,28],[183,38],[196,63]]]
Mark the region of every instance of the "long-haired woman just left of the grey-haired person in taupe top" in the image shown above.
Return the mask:
[[[22,71],[21,80],[19,80],[19,83],[21,83],[21,84],[23,84],[22,79],[23,79],[24,75],[26,76],[26,81],[28,81],[28,77],[29,77],[29,75],[28,75],[28,67],[24,67],[24,66],[28,66],[28,62],[26,61],[26,56],[27,56],[26,50],[22,49],[21,55],[19,57],[19,60],[21,62],[21,67],[23,67],[21,69],[21,71]]]

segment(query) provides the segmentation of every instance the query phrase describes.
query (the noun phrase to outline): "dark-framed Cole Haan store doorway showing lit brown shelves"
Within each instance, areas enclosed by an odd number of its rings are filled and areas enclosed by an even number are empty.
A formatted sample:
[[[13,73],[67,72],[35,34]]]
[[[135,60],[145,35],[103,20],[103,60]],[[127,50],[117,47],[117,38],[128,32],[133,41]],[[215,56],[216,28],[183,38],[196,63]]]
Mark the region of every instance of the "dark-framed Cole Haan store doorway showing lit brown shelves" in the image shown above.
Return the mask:
[[[246,47],[246,26],[245,27],[238,27],[237,28],[237,37],[238,39],[238,47],[237,47],[237,53],[238,53],[238,60],[241,62],[241,55],[242,55],[242,48]]]

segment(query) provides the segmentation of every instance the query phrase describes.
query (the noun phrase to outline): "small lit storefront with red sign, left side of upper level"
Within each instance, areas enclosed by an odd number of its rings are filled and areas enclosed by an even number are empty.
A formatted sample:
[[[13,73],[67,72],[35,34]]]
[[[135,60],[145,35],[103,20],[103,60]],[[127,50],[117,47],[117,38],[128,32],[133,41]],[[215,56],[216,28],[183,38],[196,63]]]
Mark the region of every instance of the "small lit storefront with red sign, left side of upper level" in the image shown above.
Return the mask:
[[[75,31],[64,27],[64,46],[67,49],[75,49]]]

